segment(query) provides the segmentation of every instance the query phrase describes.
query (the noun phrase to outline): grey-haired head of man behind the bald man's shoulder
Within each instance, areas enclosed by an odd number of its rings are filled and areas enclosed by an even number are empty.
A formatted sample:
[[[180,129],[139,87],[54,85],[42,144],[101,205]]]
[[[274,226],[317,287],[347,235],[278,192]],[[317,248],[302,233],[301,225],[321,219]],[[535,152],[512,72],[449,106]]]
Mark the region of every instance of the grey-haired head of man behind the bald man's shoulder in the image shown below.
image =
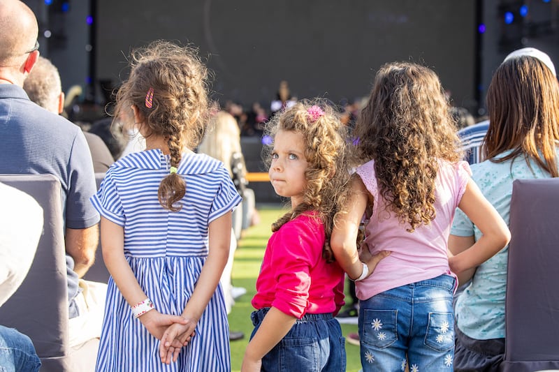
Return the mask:
[[[31,73],[23,83],[23,89],[29,99],[37,105],[59,114],[62,85],[58,68],[48,59],[38,57]]]

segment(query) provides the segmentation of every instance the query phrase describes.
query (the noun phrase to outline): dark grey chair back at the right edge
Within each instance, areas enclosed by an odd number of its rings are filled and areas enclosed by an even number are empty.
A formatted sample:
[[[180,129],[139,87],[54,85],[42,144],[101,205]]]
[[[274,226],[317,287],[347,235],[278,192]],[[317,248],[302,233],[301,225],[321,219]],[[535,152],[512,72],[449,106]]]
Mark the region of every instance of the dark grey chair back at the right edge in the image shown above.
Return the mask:
[[[559,179],[513,183],[502,371],[559,369]]]

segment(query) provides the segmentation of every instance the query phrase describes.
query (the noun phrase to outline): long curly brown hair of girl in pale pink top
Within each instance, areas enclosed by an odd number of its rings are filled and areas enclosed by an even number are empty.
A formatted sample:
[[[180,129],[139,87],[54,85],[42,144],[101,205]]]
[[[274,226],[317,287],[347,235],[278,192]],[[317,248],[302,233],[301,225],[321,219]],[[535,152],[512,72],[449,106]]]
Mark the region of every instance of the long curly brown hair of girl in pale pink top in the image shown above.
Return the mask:
[[[437,74],[394,62],[379,69],[358,117],[354,163],[375,160],[386,211],[413,232],[435,218],[438,161],[459,161],[456,124]]]

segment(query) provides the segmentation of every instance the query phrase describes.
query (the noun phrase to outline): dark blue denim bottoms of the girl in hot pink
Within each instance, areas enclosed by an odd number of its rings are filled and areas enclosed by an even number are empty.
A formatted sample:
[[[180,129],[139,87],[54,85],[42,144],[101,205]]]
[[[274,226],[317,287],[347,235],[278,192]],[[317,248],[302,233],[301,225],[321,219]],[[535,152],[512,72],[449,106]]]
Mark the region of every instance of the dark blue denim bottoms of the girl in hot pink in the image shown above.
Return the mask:
[[[261,308],[252,313],[251,339],[268,310]],[[262,358],[262,371],[345,372],[345,369],[345,338],[340,323],[331,313],[303,315]]]

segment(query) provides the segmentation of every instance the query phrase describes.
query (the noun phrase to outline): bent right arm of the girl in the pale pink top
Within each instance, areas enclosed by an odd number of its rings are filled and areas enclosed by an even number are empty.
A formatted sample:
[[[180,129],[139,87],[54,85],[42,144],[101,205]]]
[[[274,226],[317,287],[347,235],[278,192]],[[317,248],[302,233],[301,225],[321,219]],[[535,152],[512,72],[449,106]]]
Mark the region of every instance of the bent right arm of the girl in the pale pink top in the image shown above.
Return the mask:
[[[479,228],[482,235],[470,248],[466,247],[465,239],[453,239],[451,244],[449,239],[449,248],[452,245],[451,252],[456,252],[456,255],[449,258],[449,265],[456,274],[481,265],[498,253],[511,239],[507,224],[472,179],[468,181],[458,207]]]

